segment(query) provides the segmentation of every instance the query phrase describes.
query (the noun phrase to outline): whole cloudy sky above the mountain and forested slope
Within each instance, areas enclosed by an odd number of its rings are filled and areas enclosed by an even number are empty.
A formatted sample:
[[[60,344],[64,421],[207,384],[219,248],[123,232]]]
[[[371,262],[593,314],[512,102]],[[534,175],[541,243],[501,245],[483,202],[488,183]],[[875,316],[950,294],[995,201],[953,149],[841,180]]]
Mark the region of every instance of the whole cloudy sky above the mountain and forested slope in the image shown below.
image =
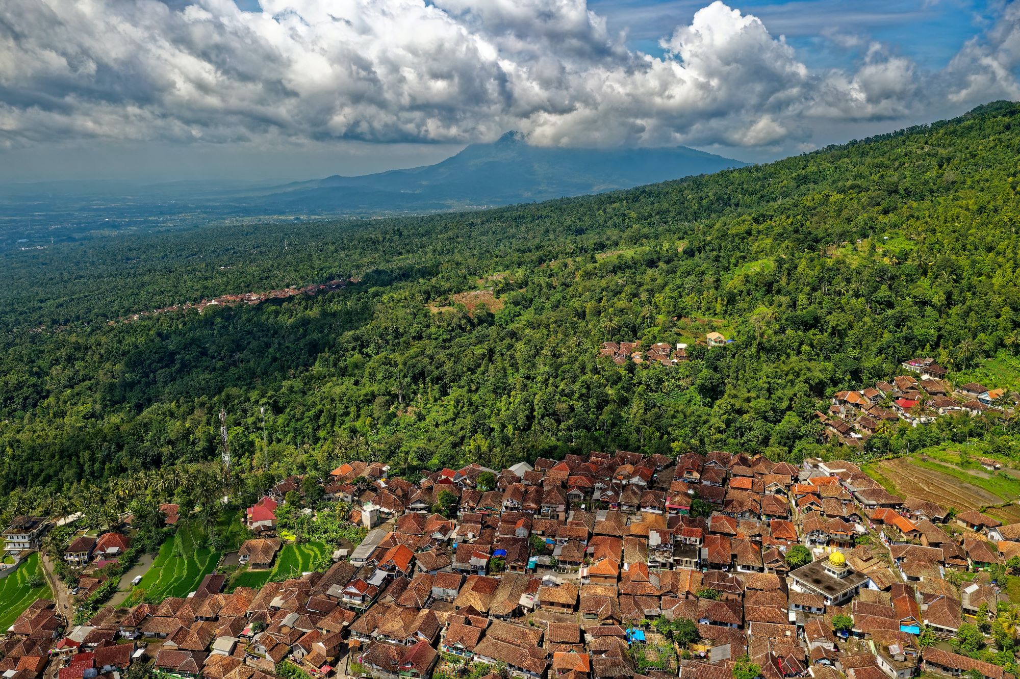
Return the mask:
[[[510,129],[764,162],[1020,99],[1020,0],[2,0],[0,181],[271,181]]]

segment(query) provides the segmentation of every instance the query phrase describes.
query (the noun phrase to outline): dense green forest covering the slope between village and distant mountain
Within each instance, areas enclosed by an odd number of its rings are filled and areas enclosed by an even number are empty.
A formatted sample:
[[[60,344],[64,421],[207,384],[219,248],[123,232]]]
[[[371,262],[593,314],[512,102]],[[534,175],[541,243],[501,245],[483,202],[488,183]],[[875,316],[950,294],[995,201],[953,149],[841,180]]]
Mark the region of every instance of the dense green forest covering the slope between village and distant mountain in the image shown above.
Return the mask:
[[[834,390],[918,354],[959,370],[1020,350],[1018,158],[1020,105],[999,102],[594,197],[11,253],[0,489],[73,492],[212,459],[220,408],[239,464],[279,472],[360,457],[413,475],[614,448],[849,454],[819,443],[813,413]],[[315,297],[106,323],[352,275]],[[486,286],[492,309],[452,302]],[[607,340],[681,341],[690,319],[718,319],[734,342],[674,368],[598,358]],[[992,424],[905,424],[869,451],[1012,446]]]

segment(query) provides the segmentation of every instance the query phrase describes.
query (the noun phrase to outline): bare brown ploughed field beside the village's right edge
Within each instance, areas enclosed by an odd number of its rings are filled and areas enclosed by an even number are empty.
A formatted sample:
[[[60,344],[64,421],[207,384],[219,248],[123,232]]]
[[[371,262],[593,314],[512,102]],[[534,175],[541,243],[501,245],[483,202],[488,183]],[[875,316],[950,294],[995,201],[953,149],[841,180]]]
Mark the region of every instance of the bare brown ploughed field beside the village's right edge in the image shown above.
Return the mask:
[[[919,467],[910,458],[882,460],[869,467],[878,472],[874,475],[876,480],[883,485],[895,486],[895,490],[887,488],[891,492],[905,498],[929,500],[947,508],[955,507],[961,511],[980,509],[1006,500],[951,474]]]

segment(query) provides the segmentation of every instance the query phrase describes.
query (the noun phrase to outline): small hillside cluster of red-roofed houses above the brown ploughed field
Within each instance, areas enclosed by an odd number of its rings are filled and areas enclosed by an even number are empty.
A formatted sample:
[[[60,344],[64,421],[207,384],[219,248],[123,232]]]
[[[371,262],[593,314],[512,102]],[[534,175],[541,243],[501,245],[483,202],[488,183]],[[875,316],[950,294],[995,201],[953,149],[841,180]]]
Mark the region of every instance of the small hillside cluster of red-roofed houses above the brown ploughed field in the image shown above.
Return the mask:
[[[899,375],[891,382],[877,381],[857,391],[838,391],[827,413],[816,413],[830,440],[860,446],[885,423],[901,420],[913,426],[926,424],[939,415],[1002,414],[998,407],[1005,389],[988,389],[968,382],[951,388],[945,381],[946,368],[930,358],[904,361],[902,366],[916,374]]]

